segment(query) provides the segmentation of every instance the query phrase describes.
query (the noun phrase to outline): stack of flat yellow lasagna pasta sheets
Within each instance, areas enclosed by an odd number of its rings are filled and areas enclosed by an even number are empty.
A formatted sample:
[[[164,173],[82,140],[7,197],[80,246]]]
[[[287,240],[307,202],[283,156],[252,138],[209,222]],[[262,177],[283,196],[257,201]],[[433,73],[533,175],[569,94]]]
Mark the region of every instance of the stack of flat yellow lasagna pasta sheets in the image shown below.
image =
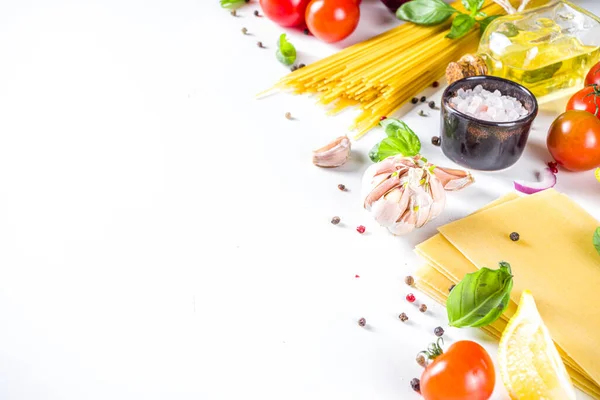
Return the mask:
[[[485,330],[499,337],[516,311],[521,291],[530,289],[574,382],[600,398],[600,347],[593,340],[600,328],[600,312],[594,311],[600,257],[591,245],[598,225],[555,190],[523,198],[505,196],[440,228],[444,236],[438,234],[417,246],[416,252],[428,263],[416,274],[417,286],[445,303],[449,287],[466,273],[510,262],[515,275],[513,301]],[[510,232],[519,232],[521,239],[511,241]]]

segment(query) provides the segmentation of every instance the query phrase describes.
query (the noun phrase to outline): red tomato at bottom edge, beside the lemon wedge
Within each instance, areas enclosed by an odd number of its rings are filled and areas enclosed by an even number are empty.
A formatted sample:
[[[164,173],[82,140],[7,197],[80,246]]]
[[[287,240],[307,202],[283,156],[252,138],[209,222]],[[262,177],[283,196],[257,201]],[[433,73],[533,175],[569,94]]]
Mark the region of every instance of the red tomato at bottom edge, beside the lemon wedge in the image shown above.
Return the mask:
[[[425,368],[421,395],[425,400],[488,400],[495,384],[490,355],[477,343],[463,340]]]

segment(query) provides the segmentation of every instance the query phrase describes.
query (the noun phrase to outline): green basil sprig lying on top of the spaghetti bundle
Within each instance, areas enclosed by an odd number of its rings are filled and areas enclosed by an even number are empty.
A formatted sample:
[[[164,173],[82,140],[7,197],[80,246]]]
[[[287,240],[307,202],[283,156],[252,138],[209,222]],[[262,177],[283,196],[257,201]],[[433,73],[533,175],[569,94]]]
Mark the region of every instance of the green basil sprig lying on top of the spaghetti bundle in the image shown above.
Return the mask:
[[[412,0],[404,3],[396,11],[398,19],[413,22],[418,25],[438,25],[446,22],[452,15],[458,14],[452,21],[450,33],[446,37],[458,39],[463,37],[479,23],[481,33],[497,18],[497,15],[487,16],[481,12],[485,0],[462,0],[462,4],[469,12],[461,13],[456,8],[444,3],[442,0]],[[477,17],[484,17],[477,19]]]

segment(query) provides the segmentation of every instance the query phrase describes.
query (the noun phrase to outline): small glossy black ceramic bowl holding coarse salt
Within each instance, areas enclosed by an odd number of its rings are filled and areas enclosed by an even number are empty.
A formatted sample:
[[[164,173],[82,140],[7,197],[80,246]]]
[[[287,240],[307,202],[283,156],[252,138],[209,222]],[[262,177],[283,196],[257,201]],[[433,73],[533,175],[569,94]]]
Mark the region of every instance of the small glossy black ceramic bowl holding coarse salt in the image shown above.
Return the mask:
[[[499,90],[519,100],[529,113],[513,122],[484,121],[463,114],[450,105],[458,89]],[[472,76],[452,83],[442,96],[442,150],[455,163],[479,171],[498,171],[517,162],[523,154],[531,124],[538,112],[533,93],[518,83],[495,76]]]

